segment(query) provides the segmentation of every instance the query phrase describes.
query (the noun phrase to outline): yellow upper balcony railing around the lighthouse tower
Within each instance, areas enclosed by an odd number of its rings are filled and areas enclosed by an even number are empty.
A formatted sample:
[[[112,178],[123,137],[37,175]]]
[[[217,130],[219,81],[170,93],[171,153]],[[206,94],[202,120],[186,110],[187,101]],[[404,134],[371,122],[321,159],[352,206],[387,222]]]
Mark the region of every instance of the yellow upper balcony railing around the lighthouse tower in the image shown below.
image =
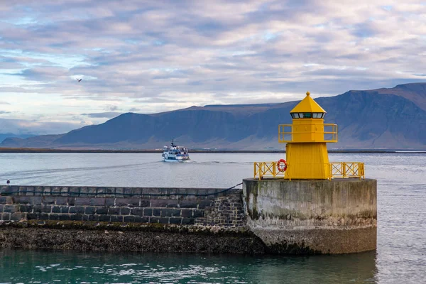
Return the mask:
[[[297,126],[316,126],[315,124],[297,124]],[[337,124],[321,124],[321,126],[324,125],[324,131],[300,131],[300,132],[293,132],[293,126],[295,124],[280,124],[278,125],[278,142],[280,143],[288,143],[295,141],[293,135],[303,135],[306,137],[312,136],[315,142],[337,142]],[[320,125],[318,125],[320,126]],[[329,129],[329,131],[326,131],[326,127]],[[286,129],[287,128],[287,129]],[[331,135],[331,138],[327,138],[325,135]],[[317,138],[316,136],[320,135],[321,138]],[[310,141],[307,141],[310,142]]]

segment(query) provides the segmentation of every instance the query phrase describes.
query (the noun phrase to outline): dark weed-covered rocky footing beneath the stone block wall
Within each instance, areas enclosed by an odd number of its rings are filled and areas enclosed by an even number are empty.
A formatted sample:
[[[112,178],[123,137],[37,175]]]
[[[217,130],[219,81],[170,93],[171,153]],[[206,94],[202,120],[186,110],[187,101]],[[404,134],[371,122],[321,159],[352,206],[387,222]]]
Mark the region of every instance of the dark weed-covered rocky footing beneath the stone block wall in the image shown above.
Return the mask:
[[[114,222],[0,222],[0,249],[274,254],[247,229]]]

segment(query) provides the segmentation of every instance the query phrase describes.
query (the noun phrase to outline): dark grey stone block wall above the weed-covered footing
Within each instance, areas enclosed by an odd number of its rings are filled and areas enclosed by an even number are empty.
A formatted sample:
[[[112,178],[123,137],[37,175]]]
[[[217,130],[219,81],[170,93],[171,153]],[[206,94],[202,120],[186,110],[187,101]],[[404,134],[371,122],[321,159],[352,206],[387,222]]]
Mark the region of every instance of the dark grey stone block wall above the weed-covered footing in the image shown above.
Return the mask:
[[[241,190],[222,191],[212,188],[3,186],[0,187],[0,220],[244,226]],[[215,210],[220,216],[210,216]],[[205,212],[207,218],[204,218]]]

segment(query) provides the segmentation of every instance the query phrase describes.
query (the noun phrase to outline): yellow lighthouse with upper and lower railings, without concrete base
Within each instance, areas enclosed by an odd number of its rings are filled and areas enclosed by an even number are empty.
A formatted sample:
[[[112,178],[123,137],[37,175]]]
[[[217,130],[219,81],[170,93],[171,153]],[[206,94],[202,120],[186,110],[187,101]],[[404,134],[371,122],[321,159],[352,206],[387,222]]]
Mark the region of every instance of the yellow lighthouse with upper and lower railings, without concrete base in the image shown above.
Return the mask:
[[[329,162],[327,142],[337,142],[337,124],[324,124],[326,111],[310,97],[309,92],[290,114],[293,123],[278,126],[278,142],[287,143],[287,160],[255,162],[254,178],[364,179],[364,163]]]

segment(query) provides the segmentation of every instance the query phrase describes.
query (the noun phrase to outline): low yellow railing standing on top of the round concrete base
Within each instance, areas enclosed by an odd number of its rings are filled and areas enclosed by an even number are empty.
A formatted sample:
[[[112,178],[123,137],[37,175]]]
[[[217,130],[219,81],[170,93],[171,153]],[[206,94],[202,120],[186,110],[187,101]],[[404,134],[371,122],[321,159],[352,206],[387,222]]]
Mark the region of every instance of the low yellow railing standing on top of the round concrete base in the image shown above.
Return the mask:
[[[364,163],[360,162],[332,162],[324,163],[325,177],[328,180],[332,178],[359,178],[361,180],[365,178],[364,172]],[[321,164],[297,164],[297,166],[302,166],[307,172],[312,172],[312,179],[315,179],[313,173],[316,173],[318,167],[322,166]],[[291,165],[287,165],[287,170],[285,172],[280,172],[277,168],[277,162],[255,162],[254,163],[254,178],[261,180],[262,178],[297,178],[290,175]],[[306,176],[306,175],[305,175]],[[309,176],[309,174],[307,175]]]

